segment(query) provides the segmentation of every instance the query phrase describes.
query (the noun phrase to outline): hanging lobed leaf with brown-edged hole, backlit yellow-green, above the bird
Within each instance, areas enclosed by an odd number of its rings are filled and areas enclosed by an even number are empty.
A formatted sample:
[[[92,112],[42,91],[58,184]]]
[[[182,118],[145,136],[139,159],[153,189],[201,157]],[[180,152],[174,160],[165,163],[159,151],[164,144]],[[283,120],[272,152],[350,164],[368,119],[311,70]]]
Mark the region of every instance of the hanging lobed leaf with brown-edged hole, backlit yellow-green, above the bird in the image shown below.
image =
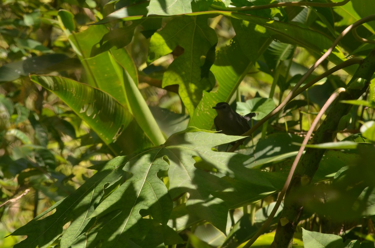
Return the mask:
[[[202,92],[211,90],[215,84],[209,69],[216,43],[216,33],[208,27],[205,16],[174,18],[151,37],[148,62],[171,53],[177,45],[184,49],[164,73],[163,87],[178,84],[178,93],[190,114],[201,100]]]

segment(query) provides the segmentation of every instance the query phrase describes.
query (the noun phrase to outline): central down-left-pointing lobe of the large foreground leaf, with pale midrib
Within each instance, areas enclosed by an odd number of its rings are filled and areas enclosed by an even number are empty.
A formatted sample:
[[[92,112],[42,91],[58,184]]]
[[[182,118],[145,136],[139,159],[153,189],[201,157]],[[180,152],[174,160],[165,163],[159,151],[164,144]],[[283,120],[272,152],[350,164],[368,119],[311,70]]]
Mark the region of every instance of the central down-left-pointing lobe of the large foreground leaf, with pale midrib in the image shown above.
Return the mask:
[[[116,247],[133,241],[142,240],[148,232],[143,225],[144,215],[165,225],[173,208],[173,202],[157,172],[168,170],[168,163],[163,160],[163,147],[154,147],[130,158],[123,170],[130,173],[124,184],[118,187],[95,209],[90,218],[98,217],[103,228],[98,232],[96,241],[103,242],[103,247]],[[108,214],[116,213],[108,222]],[[101,218],[103,217],[103,218]],[[116,237],[116,238],[115,238]]]

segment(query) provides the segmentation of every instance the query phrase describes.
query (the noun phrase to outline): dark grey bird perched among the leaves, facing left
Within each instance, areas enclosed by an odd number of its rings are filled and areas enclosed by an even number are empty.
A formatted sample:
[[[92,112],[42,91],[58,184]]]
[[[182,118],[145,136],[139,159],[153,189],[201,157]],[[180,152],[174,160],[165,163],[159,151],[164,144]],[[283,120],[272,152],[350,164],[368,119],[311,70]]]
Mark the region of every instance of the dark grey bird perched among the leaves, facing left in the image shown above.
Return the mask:
[[[242,117],[231,109],[226,102],[217,103],[212,108],[217,112],[217,116],[213,120],[216,131],[220,131],[219,133],[226,135],[240,136],[246,133],[250,129],[248,121],[255,115],[255,113],[249,113]]]

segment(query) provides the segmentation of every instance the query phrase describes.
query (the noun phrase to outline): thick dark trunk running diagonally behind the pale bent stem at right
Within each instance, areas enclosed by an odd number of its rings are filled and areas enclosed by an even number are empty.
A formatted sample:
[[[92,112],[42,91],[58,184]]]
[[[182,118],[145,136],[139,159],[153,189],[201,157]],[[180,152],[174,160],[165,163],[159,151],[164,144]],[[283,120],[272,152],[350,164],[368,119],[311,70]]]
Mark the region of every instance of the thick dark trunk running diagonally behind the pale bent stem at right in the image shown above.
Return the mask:
[[[340,119],[348,114],[351,109],[351,105],[341,103],[341,100],[354,100],[362,96],[363,93],[366,92],[374,73],[375,49],[362,61],[356,73],[354,73],[353,78],[349,82],[345,93],[340,94],[339,98],[332,104],[330,111],[327,113],[327,117],[324,119],[311,140],[313,144],[332,142],[333,135],[337,130]],[[356,86],[353,87],[352,84],[359,78],[365,79],[365,84],[362,88],[357,89]],[[301,185],[309,184],[311,182],[324,152],[324,149],[308,148],[302,160],[298,163],[293,178],[290,181],[290,186],[285,194],[284,208],[271,247],[289,247],[303,209],[302,203],[297,203],[293,199],[293,192],[300,188]]]

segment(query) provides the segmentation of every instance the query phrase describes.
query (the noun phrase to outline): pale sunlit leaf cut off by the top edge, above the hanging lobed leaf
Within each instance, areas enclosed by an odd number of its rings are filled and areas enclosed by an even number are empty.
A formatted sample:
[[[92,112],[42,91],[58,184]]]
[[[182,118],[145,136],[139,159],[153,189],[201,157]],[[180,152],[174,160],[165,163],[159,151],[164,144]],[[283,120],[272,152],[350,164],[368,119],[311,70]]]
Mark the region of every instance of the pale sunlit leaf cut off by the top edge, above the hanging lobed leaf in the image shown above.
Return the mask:
[[[192,0],[151,0],[147,15],[178,15],[191,13],[191,1]]]

